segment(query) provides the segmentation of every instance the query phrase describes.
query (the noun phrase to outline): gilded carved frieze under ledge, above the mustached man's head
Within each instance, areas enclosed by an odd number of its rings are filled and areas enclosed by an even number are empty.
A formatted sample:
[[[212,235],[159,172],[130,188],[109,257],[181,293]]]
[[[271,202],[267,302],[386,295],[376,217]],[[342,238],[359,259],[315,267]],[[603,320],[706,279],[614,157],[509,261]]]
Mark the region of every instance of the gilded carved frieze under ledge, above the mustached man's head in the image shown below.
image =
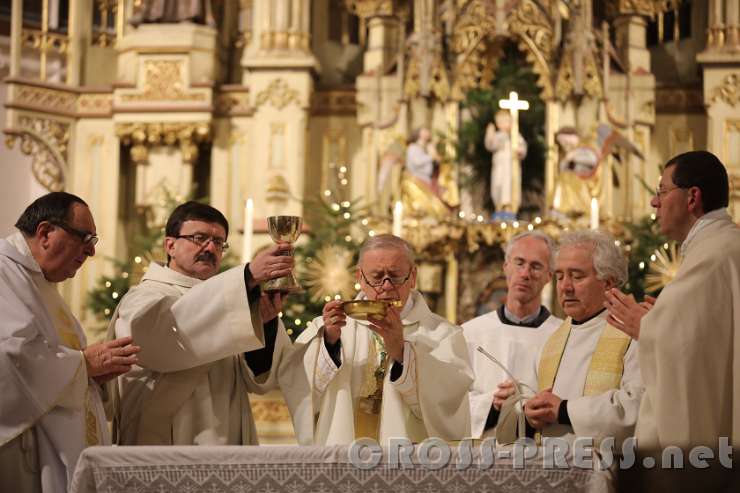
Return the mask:
[[[198,159],[198,144],[211,138],[208,122],[192,123],[119,123],[116,136],[124,145],[131,146],[131,159],[137,164],[146,163],[149,147],[177,146],[182,160],[194,163]]]

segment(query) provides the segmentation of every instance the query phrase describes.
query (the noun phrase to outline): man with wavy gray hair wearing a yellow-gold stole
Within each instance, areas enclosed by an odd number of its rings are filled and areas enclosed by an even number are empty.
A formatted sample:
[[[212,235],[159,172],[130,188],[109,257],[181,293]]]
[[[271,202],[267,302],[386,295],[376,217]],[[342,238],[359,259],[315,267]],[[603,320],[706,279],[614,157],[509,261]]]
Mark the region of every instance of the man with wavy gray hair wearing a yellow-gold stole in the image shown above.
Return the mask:
[[[555,278],[568,318],[542,348],[527,421],[543,436],[591,437],[595,446],[614,437],[619,446],[634,433],[644,392],[637,343],[607,323],[604,309],[605,291],[627,280],[627,261],[605,233],[565,233]]]

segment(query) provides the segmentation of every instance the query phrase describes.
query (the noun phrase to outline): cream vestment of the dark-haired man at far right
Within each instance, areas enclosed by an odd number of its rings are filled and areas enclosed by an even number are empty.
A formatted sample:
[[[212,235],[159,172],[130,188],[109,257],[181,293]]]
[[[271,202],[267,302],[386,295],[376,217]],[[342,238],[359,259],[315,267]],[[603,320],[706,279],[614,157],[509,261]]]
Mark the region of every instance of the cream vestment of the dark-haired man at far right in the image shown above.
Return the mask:
[[[682,245],[675,279],[640,324],[645,397],[638,450],[719,437],[740,446],[740,228],[724,209],[704,215]]]

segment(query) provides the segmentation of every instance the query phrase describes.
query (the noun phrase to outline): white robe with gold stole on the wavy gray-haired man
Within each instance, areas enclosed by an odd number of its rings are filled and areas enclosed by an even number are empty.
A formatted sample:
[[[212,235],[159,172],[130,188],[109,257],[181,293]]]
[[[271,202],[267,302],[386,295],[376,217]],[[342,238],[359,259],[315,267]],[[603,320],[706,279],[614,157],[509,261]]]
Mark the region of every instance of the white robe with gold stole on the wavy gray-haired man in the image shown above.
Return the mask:
[[[615,444],[621,446],[633,435],[644,392],[638,344],[619,337],[623,334],[608,326],[606,316],[603,311],[582,324],[571,324],[567,318],[540,351],[538,386],[546,386],[545,380],[552,381],[553,394],[568,400],[571,421],[571,425],[546,426],[543,437],[591,437],[596,446],[604,438],[614,437]],[[562,330],[567,326],[569,330]],[[551,341],[560,337],[565,339],[560,354],[548,354],[556,346],[550,345]],[[551,376],[542,375],[543,371],[552,372]]]

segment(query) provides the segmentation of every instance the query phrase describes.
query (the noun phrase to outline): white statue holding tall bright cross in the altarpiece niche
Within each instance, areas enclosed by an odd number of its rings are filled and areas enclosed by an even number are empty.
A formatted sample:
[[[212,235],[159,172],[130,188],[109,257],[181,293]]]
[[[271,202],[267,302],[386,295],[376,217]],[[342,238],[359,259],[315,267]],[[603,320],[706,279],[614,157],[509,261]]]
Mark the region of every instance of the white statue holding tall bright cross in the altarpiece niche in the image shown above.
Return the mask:
[[[485,146],[493,153],[491,160],[491,198],[496,219],[516,219],[521,205],[522,173],[520,161],[527,155],[527,142],[519,133],[519,111],[529,109],[527,101],[510,92],[509,99],[499,101],[496,125],[488,124]],[[505,111],[509,110],[509,111]],[[516,152],[512,152],[516,149]]]

